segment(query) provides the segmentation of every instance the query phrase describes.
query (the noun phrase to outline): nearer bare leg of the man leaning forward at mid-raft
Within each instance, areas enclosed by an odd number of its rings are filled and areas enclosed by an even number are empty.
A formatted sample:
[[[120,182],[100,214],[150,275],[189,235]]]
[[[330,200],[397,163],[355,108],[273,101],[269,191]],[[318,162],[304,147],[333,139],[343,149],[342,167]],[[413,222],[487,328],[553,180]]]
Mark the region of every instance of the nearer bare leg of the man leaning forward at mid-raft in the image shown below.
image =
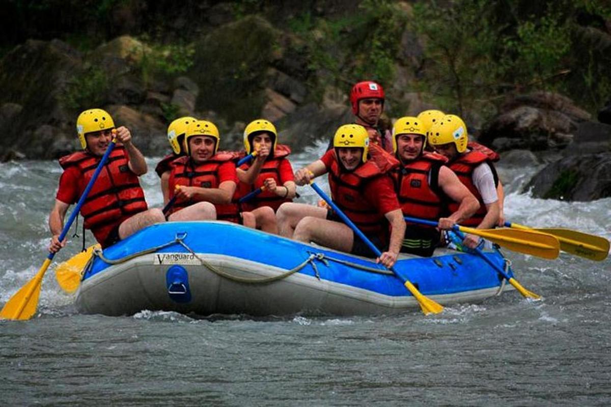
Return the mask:
[[[350,253],[354,243],[354,233],[343,223],[307,216],[297,224],[293,239],[306,243],[315,242],[321,246]]]

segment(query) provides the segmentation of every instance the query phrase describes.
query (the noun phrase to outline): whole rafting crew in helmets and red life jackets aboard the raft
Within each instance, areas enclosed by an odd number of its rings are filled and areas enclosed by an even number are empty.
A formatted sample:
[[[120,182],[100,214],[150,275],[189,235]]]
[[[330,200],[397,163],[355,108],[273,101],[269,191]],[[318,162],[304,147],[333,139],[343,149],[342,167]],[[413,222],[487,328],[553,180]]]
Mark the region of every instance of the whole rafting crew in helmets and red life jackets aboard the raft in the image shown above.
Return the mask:
[[[332,200],[379,248],[377,261],[387,267],[400,252],[432,256],[442,244],[441,231],[456,224],[502,225],[503,190],[492,164],[499,156],[469,142],[461,118],[425,110],[384,129],[384,90],[371,81],[354,85],[350,103],[354,123],[340,126],[328,151],[294,174],[290,148],[278,143],[268,120],[246,126],[240,153],[218,151],[221,137],[210,121],[173,121],[167,131],[172,153],[156,167],[166,214],[147,206],[138,181],[147,164],[129,129],[115,128],[104,110],[86,110],[76,122],[82,151],[59,160],[64,172],[49,215],[49,251],[64,247],[59,236],[68,207],[79,200],[113,137],[117,145],[81,207],[84,227],[102,248],[153,223],[218,219],[375,258],[323,202],[292,202],[296,185],[326,173]],[[244,164],[236,167],[238,161]],[[406,224],[405,216],[433,220],[438,227]],[[463,241],[469,248],[479,243],[472,235]]]

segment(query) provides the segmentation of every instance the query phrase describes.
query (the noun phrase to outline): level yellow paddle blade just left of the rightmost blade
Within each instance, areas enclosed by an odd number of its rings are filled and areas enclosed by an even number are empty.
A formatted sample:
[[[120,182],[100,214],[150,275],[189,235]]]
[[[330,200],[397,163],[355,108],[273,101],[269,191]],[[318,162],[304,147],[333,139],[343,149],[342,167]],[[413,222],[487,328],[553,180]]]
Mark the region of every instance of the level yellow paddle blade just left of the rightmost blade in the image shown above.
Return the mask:
[[[531,254],[544,259],[555,259],[560,254],[560,243],[556,237],[521,229],[472,229],[458,226],[461,232],[481,236],[499,246],[519,253]]]

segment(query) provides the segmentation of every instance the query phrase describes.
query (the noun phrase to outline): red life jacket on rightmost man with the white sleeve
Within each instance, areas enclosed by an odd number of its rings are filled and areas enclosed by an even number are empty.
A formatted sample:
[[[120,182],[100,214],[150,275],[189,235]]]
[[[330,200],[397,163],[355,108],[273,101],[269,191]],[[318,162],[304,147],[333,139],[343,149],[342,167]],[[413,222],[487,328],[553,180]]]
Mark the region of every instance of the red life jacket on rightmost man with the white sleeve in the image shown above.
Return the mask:
[[[461,154],[457,157],[457,159],[450,161],[447,166],[450,167],[450,170],[454,171],[460,179],[461,182],[469,189],[469,191],[477,198],[480,203],[480,209],[475,212],[475,214],[469,219],[461,222],[463,226],[477,226],[481,223],[483,218],[486,216],[486,204],[481,199],[480,192],[477,190],[473,183],[473,171],[475,167],[486,162],[490,166],[490,170],[492,171],[492,175],[494,176],[494,185],[499,185],[499,177],[497,176],[496,169],[494,165],[484,153],[480,153],[479,151],[468,151],[467,153]],[[458,209],[459,204],[455,202],[451,202],[448,204],[448,210],[450,214],[453,214]]]

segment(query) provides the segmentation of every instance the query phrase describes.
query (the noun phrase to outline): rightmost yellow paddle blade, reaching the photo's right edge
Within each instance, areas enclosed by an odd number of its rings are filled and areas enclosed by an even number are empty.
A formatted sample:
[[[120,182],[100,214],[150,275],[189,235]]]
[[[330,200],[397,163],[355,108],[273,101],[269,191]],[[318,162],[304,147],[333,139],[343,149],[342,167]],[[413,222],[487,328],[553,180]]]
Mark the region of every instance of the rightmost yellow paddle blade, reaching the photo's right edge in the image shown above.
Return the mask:
[[[603,261],[609,256],[609,240],[604,237],[563,228],[533,230],[557,237],[560,241],[560,250],[566,253],[595,261]]]

